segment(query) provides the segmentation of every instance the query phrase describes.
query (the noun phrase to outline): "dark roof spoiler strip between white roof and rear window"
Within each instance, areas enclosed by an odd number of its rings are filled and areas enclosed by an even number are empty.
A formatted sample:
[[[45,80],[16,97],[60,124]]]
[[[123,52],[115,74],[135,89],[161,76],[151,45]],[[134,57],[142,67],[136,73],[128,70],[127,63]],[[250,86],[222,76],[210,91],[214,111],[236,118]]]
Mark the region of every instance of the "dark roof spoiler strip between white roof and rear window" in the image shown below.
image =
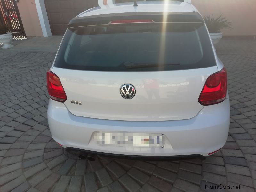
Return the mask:
[[[92,15],[86,17],[75,17],[69,24],[70,27],[80,27],[88,25],[107,25],[112,20],[125,20],[125,19],[152,19],[155,22],[163,22],[163,12],[129,12],[129,13],[114,13]],[[169,12],[166,22],[201,22],[204,19],[198,12]]]

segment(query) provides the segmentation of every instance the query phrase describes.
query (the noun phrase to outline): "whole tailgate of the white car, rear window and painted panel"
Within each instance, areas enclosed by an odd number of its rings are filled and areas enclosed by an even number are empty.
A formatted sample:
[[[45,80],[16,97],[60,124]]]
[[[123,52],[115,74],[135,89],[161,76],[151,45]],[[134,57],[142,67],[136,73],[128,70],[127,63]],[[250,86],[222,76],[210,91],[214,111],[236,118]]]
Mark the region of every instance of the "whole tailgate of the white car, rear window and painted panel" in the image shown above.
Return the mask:
[[[69,28],[52,69],[71,113],[130,121],[196,116],[204,83],[217,71],[204,23],[153,20]],[[132,99],[121,96],[124,84],[134,86]]]

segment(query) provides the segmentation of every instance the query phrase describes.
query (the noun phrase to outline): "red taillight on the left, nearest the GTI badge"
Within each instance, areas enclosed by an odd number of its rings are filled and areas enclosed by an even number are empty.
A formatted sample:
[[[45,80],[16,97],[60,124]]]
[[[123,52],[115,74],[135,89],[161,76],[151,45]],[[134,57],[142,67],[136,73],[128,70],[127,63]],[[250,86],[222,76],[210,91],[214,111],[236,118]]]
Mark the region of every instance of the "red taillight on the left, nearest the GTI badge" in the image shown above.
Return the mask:
[[[65,102],[67,100],[66,93],[60,82],[60,78],[52,73],[52,71],[47,71],[47,89],[50,98],[55,101]]]

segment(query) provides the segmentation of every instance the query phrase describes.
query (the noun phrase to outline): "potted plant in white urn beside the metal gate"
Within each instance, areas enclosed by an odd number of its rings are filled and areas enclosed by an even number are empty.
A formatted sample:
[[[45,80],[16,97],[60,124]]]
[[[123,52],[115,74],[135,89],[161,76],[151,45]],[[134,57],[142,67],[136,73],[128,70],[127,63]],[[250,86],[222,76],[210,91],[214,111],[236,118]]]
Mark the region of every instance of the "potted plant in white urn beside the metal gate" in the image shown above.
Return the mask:
[[[0,43],[4,44],[4,46],[2,46],[2,49],[8,49],[13,47],[13,45],[10,44],[10,42],[12,41],[11,29],[11,25],[0,23]]]

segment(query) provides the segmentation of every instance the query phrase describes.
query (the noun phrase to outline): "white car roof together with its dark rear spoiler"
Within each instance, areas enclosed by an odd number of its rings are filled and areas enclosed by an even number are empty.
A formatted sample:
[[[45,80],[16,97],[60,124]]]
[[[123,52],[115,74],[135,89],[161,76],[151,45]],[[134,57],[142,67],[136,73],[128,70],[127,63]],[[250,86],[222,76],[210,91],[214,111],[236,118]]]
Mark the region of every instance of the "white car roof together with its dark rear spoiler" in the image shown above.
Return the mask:
[[[88,9],[73,18],[68,28],[108,25],[113,20],[152,19],[154,22],[200,22],[204,19],[196,8],[179,1],[141,1],[138,6],[133,2],[109,4]]]

